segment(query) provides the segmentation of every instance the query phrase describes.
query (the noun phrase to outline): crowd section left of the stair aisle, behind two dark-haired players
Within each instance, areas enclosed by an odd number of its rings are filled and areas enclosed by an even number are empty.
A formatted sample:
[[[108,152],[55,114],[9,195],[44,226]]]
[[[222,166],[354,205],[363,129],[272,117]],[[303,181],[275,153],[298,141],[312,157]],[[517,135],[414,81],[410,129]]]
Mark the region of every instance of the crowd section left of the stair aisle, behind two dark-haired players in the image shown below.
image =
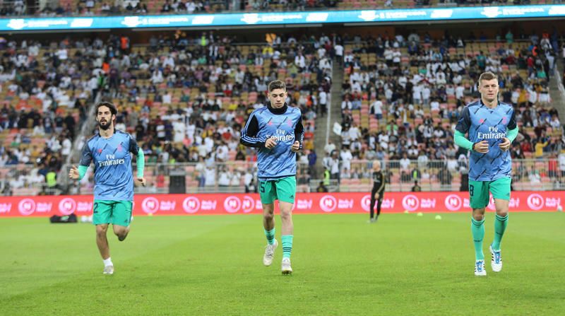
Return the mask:
[[[323,115],[317,96],[327,98],[331,87],[332,60],[321,48],[327,38],[291,37],[283,43],[269,36],[269,45],[253,46],[233,45],[233,38],[213,33],[186,37],[179,32],[152,37],[147,47],[134,49],[127,37],[116,36],[47,47],[8,42],[11,58],[3,64],[8,91],[0,118],[5,158],[0,166],[35,163],[32,175],[44,175],[45,161],[57,159],[47,168],[56,173],[71,151],[74,127],[85,119],[85,105],[100,93],[117,105],[117,129],[136,137],[148,163],[199,162],[191,185],[223,186],[222,170],[211,167],[239,160],[242,168],[224,171],[242,176],[244,166],[254,163],[254,152],[239,146],[239,132],[250,112],[266,102],[267,83],[277,78],[287,83],[287,103],[302,109],[304,148],[311,150],[316,111]],[[65,112],[66,117],[56,115]],[[38,141],[50,139],[47,146],[28,146],[28,134]],[[208,175],[212,170],[218,177]],[[12,177],[9,187],[26,187],[26,173]],[[157,187],[167,185],[162,177],[151,180]]]

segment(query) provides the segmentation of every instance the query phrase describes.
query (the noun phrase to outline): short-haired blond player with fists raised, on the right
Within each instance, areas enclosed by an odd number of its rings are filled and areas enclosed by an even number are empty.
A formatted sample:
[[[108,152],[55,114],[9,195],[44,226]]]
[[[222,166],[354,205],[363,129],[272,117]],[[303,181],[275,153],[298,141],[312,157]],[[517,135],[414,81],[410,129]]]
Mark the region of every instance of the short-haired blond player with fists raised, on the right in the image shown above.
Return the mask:
[[[500,242],[508,225],[511,185],[512,141],[518,135],[516,113],[512,105],[498,100],[499,82],[492,72],[479,77],[481,99],[467,105],[456,126],[455,142],[470,151],[469,197],[472,209],[471,233],[475,244],[475,276],[486,276],[482,240],[484,238],[484,208],[489,204],[489,192],[494,198],[494,240],[489,246],[492,271],[502,269]],[[469,139],[465,138],[468,133]]]

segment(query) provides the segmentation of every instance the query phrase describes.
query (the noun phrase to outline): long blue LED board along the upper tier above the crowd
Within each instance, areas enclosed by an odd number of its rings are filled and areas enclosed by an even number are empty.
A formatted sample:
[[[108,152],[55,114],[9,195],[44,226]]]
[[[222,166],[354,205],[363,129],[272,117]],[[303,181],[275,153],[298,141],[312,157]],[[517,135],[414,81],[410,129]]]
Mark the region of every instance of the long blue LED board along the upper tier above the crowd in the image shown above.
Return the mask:
[[[285,13],[222,13],[161,16],[100,16],[83,18],[2,18],[0,32],[27,30],[100,30],[113,28],[245,27],[321,23],[402,23],[469,21],[506,18],[565,17],[565,5],[476,6],[468,8],[407,8],[395,10],[311,11]]]

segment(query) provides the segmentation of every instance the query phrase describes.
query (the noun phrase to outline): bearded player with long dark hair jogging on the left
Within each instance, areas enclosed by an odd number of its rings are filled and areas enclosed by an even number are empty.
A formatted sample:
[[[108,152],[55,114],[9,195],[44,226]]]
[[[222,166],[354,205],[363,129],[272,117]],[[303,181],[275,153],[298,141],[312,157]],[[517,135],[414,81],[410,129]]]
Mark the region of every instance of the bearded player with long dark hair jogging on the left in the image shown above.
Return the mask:
[[[114,130],[117,110],[112,103],[96,105],[98,133],[88,139],[83,147],[81,162],[69,171],[73,180],[81,180],[90,162],[94,161],[94,208],[93,223],[96,226],[96,245],[104,262],[104,274],[114,274],[114,264],[106,232],[112,223],[119,241],[126,239],[131,221],[133,201],[133,174],[131,153],[136,155],[136,184],[145,187],[143,151],[135,139],[124,131]]]

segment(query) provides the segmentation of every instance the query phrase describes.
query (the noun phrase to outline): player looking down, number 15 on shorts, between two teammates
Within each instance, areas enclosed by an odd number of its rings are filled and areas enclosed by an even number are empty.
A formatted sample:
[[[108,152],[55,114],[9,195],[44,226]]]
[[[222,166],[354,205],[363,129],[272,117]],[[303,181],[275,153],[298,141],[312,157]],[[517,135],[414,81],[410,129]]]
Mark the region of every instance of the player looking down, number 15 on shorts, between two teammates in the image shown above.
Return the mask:
[[[275,239],[275,200],[279,201],[282,221],[283,274],[292,274],[292,205],[296,195],[296,153],[302,148],[304,128],[302,114],[288,107],[287,88],[283,81],[271,81],[268,86],[270,103],[251,112],[240,139],[244,146],[258,148],[259,195],[263,204],[263,228],[267,246],[263,264],[273,263],[278,242]]]

